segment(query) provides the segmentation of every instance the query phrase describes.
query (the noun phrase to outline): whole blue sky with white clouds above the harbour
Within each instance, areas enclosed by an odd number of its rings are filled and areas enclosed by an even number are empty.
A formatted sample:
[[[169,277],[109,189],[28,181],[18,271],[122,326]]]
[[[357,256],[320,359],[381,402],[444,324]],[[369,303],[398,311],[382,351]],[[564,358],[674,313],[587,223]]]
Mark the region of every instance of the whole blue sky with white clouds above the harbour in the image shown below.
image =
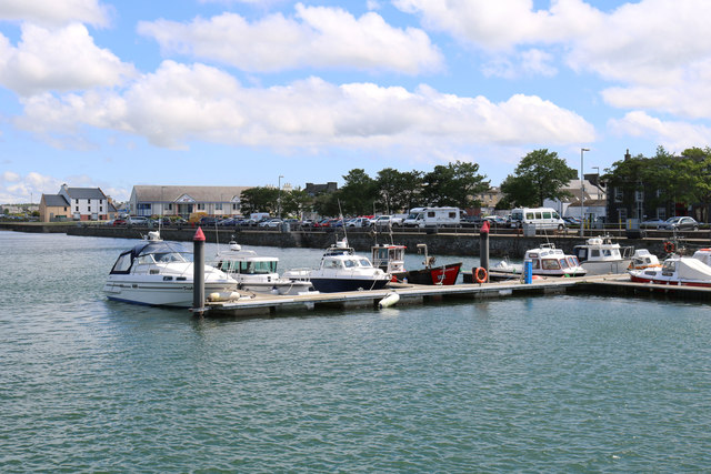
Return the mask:
[[[708,0],[0,0],[0,203],[711,140]],[[589,149],[584,154],[581,149]]]

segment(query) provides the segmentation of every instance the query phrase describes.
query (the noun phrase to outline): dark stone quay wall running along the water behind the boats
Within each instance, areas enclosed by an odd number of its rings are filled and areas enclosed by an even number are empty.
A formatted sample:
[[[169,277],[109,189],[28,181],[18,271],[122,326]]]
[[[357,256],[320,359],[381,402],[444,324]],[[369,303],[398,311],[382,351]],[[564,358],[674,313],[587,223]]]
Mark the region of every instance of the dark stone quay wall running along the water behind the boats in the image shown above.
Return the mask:
[[[108,225],[86,225],[86,224],[42,224],[42,223],[0,223],[0,230],[13,230],[19,232],[58,232],[69,235],[103,236],[114,239],[141,239],[149,229]],[[228,243],[234,239],[243,245],[278,246],[278,248],[307,248],[326,249],[336,243],[337,238],[341,239],[343,232],[338,230],[262,230],[262,229],[203,229],[208,242]],[[190,242],[194,236],[196,228],[163,228],[161,235],[164,240]],[[709,246],[709,232],[702,232],[701,239],[687,239],[690,248]],[[701,236],[701,235],[700,235]],[[620,245],[633,245],[635,249],[648,249],[650,252],[663,256],[664,242],[667,235],[628,239],[615,238]],[[375,243],[397,243],[408,246],[408,252],[417,252],[417,244],[424,243],[431,254],[439,255],[479,255],[480,239],[479,233],[471,229],[458,229],[448,231],[404,231],[398,230],[392,236],[385,232],[373,232],[372,230],[349,230],[348,241],[359,252],[369,252]],[[524,236],[515,232],[491,233],[489,238],[489,252],[492,256],[510,256],[520,259],[528,249],[534,249],[542,243],[552,243],[558,249],[571,252],[574,245],[583,243],[573,231],[565,233],[554,233],[551,235]]]

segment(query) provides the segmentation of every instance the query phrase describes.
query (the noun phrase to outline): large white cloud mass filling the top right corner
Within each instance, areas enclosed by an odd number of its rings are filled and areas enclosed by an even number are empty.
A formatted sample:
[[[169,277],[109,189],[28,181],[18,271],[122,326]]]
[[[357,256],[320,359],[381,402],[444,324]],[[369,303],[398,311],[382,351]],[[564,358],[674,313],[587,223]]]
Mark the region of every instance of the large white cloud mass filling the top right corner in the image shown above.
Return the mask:
[[[488,75],[552,75],[558,59],[574,71],[629,84],[603,92],[611,105],[711,118],[702,91],[711,79],[708,0],[641,0],[609,12],[582,0],[551,1],[540,10],[532,0],[394,4],[421,16],[425,29],[444,31],[490,54],[483,64]],[[535,48],[520,52],[531,46]]]

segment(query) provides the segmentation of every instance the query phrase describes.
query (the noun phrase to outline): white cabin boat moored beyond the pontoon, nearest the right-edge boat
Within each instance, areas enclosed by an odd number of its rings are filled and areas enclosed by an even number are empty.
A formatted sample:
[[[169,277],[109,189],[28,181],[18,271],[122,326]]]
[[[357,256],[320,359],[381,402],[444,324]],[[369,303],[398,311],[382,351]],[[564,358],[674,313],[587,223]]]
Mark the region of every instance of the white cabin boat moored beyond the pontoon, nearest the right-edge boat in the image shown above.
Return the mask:
[[[589,275],[627,272],[633,251],[632,246],[613,243],[609,236],[588,239],[573,248],[573,254]]]

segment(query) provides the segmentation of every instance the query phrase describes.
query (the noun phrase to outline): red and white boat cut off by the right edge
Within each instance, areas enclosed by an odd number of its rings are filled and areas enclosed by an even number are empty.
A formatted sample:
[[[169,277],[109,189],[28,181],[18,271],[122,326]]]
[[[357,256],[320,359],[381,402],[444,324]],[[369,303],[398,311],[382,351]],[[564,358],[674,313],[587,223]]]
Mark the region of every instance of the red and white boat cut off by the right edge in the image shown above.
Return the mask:
[[[697,251],[694,256],[673,255],[664,260],[661,269],[631,270],[630,280],[637,283],[711,288],[711,266],[702,260],[711,251],[703,249]]]

